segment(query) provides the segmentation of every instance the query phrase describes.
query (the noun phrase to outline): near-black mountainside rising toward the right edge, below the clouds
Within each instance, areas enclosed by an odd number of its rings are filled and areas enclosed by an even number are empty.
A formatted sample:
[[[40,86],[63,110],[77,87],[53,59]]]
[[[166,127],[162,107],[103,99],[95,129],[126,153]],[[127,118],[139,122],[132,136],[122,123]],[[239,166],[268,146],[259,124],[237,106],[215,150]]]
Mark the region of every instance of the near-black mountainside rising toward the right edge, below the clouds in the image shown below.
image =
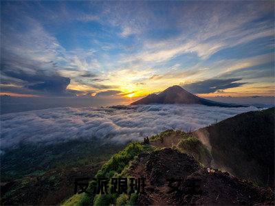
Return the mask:
[[[215,168],[274,187],[274,108],[242,113],[194,134],[208,145]]]

